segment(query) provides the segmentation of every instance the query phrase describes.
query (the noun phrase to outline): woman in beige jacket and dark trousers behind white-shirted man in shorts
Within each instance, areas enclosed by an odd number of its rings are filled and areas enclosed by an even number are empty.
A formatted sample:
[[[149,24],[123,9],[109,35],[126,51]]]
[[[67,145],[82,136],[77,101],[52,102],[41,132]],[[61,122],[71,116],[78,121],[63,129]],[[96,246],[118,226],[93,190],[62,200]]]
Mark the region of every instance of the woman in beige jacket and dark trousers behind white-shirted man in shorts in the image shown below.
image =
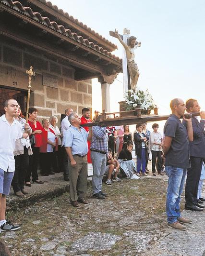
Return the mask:
[[[22,125],[22,137],[16,140],[16,146],[13,152],[15,172],[12,179],[12,187],[16,196],[23,197],[24,194],[28,194],[28,192],[24,190],[24,180],[28,168],[29,155],[33,154],[29,140],[32,129],[28,123],[25,123],[26,121],[23,118],[19,105],[15,119]]]

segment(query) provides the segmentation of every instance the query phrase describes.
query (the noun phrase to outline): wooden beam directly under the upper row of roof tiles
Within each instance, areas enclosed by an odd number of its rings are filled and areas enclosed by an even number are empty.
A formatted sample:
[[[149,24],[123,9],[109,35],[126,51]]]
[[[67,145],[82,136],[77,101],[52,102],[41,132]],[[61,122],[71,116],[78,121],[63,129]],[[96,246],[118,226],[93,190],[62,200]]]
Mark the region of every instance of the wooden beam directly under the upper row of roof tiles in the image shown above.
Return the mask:
[[[42,9],[44,12],[47,12],[47,13],[55,16],[58,20],[62,21],[64,24],[67,24],[68,27],[72,27],[75,30],[80,31],[81,34],[86,35],[86,38],[90,38],[90,39],[96,41],[97,44],[99,44],[100,46],[103,46],[105,49],[107,49],[111,52],[115,50],[115,47],[113,47],[112,45],[110,45],[106,41],[101,40],[96,35],[94,35],[92,32],[88,31],[84,27],[79,26],[74,21],[70,20],[69,18],[66,18],[62,14],[60,14],[57,11],[53,10],[52,8],[48,7],[47,4],[44,4],[44,3],[40,2],[39,0],[27,0],[27,2],[35,4],[40,9]]]

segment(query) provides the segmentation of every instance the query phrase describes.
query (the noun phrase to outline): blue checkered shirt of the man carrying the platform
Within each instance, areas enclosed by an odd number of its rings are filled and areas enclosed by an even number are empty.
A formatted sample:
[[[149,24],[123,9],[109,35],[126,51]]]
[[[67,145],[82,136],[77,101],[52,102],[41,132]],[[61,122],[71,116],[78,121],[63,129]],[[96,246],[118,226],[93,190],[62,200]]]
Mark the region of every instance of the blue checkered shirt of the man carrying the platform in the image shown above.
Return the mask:
[[[106,127],[93,126],[93,137],[90,148],[108,153],[108,135],[106,133]]]

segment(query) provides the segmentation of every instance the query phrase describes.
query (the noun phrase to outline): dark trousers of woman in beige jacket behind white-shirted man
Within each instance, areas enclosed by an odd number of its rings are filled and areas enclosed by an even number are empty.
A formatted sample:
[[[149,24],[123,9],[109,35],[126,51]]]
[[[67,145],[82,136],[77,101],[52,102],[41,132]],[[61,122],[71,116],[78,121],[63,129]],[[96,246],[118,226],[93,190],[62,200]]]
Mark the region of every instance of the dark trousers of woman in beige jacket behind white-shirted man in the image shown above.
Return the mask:
[[[28,168],[28,148],[24,147],[24,154],[14,156],[15,172],[12,179],[12,187],[14,192],[24,189],[25,173]]]

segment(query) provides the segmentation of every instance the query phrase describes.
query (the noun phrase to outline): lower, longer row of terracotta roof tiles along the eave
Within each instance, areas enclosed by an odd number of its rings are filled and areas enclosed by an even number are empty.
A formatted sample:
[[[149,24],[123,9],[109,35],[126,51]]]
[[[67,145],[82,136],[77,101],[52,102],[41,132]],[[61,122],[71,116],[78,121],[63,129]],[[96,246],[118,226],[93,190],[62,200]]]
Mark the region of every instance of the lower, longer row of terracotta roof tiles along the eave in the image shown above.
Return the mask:
[[[72,31],[70,29],[66,29],[64,26],[58,25],[55,21],[50,21],[48,17],[42,17],[40,13],[33,12],[33,10],[30,7],[28,7],[28,6],[23,7],[23,5],[19,1],[0,0],[0,3],[12,8],[16,12],[24,14],[25,16],[35,20],[36,22],[38,22],[46,27],[49,27],[52,30],[55,30],[56,32],[72,39],[73,41],[77,41],[78,43],[81,43],[82,45],[87,46],[88,49],[90,48],[90,49],[95,50],[96,52],[103,54],[113,60],[122,62],[122,60],[118,56],[111,54],[111,52],[108,52],[107,50],[103,49],[102,47],[99,47],[99,45],[94,44],[93,42],[90,42],[87,39],[84,39],[82,36],[78,36],[76,33],[72,33]],[[49,4],[49,2],[47,4]],[[84,25],[84,26],[86,26],[86,25]]]

